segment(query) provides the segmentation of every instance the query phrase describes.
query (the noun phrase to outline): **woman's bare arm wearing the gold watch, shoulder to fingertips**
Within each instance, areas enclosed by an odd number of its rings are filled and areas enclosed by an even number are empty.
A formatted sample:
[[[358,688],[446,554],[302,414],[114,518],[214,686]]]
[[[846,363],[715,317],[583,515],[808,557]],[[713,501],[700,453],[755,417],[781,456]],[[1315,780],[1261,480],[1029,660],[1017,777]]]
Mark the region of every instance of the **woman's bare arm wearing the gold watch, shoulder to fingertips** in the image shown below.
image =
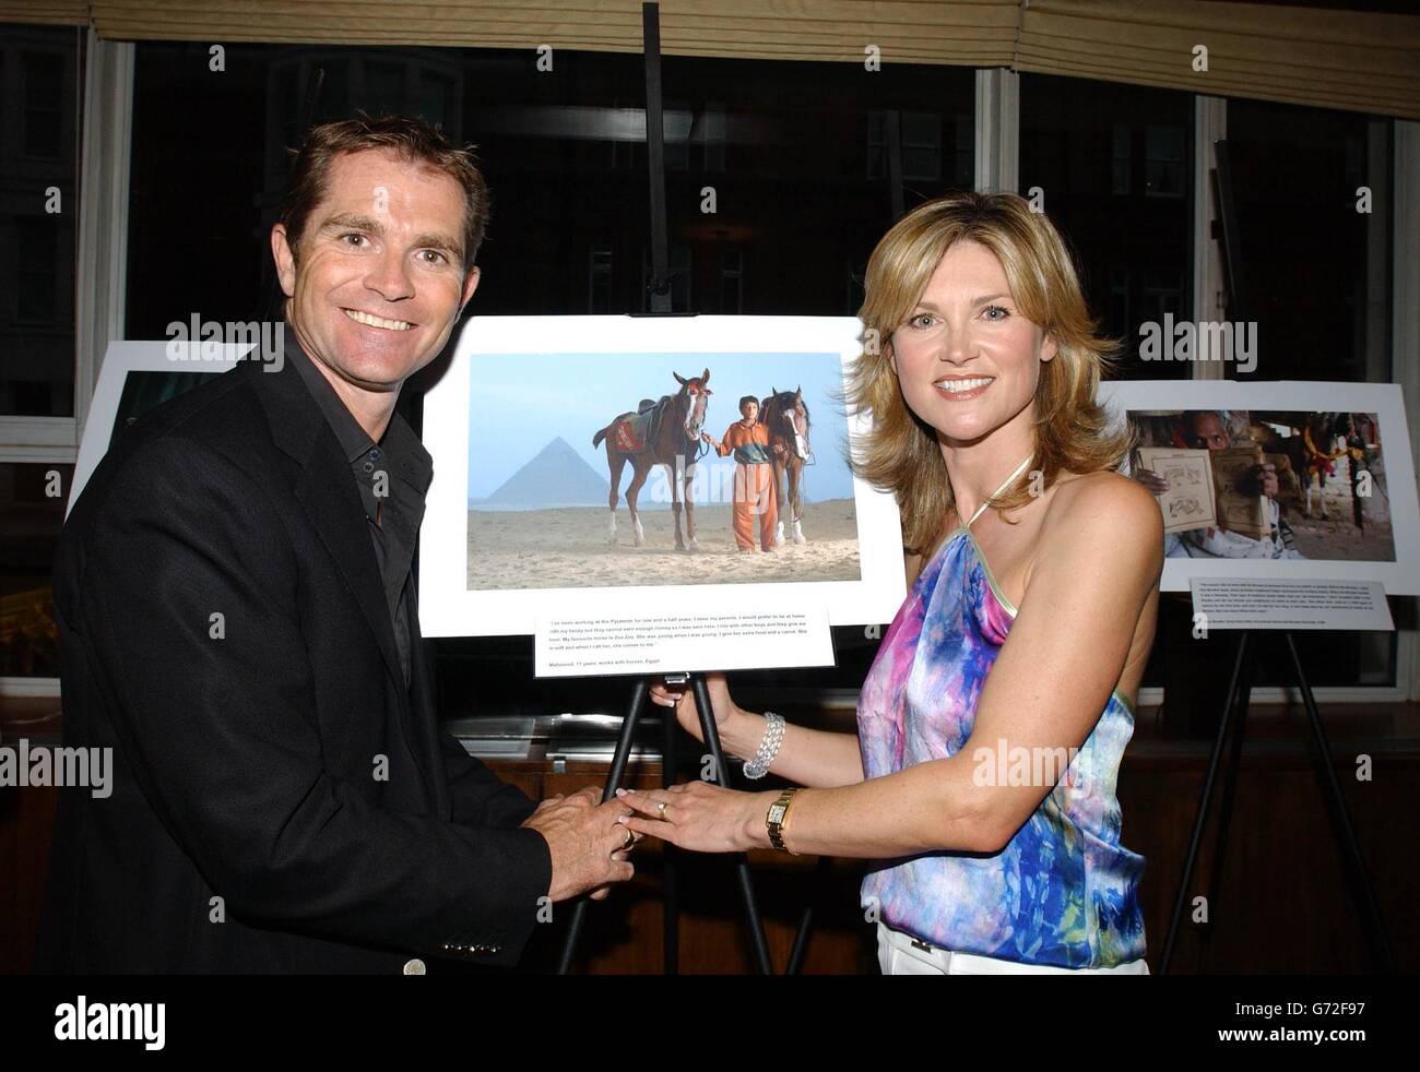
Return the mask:
[[[873,859],[998,852],[1058,781],[997,785],[998,757],[1025,748],[1049,760],[1089,737],[1157,586],[1162,530],[1153,497],[1125,477],[1059,486],[1027,598],[987,674],[963,748],[883,778],[799,792],[785,843],[794,852]],[[690,849],[761,848],[770,843],[764,814],[775,797],[703,782],[638,792],[626,802],[642,818],[628,825]],[[667,802],[669,822],[650,818],[659,801]]]

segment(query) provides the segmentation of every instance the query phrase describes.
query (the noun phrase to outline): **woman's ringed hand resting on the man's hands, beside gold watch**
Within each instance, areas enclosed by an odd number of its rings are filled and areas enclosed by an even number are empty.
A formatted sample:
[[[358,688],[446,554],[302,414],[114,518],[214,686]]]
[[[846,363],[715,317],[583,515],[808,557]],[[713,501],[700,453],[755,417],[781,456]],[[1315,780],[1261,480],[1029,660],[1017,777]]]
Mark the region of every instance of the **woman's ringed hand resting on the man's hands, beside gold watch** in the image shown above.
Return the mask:
[[[723,789],[710,782],[618,789],[616,799],[636,812],[618,822],[692,852],[744,852],[768,846],[764,816],[778,795]]]

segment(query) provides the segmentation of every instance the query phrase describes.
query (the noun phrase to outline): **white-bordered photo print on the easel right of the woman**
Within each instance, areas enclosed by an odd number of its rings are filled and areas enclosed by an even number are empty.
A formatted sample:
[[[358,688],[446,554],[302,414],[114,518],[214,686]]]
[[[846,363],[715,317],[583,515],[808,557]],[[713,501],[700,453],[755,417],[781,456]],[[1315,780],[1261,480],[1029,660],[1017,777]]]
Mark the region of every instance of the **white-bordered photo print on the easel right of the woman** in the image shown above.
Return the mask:
[[[1394,383],[1115,381],[1123,471],[1157,500],[1164,591],[1190,578],[1420,588],[1414,466]]]

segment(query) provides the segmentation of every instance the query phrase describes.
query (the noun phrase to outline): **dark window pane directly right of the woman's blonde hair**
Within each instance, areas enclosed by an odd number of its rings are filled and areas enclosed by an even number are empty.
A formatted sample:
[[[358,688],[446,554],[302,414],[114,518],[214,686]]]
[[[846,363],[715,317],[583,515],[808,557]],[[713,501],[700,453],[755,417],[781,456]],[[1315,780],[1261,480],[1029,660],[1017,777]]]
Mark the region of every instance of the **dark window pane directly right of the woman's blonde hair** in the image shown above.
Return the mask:
[[[1091,312],[1123,342],[1126,379],[1191,373],[1139,358],[1140,325],[1191,305],[1191,143],[1190,94],[1021,75],[1020,192],[1038,187],[1075,247]]]

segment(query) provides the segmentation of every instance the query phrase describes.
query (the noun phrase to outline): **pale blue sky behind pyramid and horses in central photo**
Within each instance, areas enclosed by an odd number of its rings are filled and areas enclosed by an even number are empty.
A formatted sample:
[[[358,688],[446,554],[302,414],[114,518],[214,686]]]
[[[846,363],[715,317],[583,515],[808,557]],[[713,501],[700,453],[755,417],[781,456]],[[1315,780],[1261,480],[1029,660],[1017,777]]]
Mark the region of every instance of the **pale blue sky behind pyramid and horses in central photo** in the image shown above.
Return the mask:
[[[812,423],[814,464],[805,470],[809,501],[849,498],[852,476],[842,459],[848,422],[831,392],[842,388],[838,354],[480,354],[473,358],[469,399],[469,498],[490,496],[561,436],[602,477],[605,446],[592,436],[643,398],[672,395],[710,368],[706,430],[721,439],[740,419],[743,395],[804,388]],[[709,457],[701,464],[710,461]],[[728,464],[731,460],[726,459]],[[630,483],[630,466],[622,490]]]

